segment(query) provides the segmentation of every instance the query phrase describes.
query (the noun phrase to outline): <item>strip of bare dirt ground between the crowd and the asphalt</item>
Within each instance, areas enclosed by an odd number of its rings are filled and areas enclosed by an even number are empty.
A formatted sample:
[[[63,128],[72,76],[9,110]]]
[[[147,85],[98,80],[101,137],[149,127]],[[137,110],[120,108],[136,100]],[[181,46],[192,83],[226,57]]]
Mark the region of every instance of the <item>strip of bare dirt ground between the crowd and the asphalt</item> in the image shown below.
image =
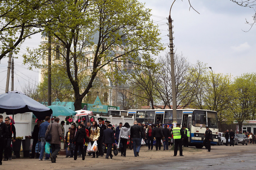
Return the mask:
[[[148,147],[142,146],[139,152],[139,157],[134,157],[133,150],[127,148],[126,157],[122,157],[120,153],[114,156],[113,159],[105,159],[105,156],[98,158],[85,157],[74,160],[73,158],[66,158],[65,156],[58,155],[56,163],[51,161],[39,161],[38,159],[20,158],[8,161],[2,161],[0,169],[138,169],[143,166],[168,164],[171,162],[184,163],[189,160],[197,159],[210,159],[210,158],[225,158],[228,155],[246,153],[254,151],[256,145],[235,145],[233,146],[212,146],[211,152],[207,150],[196,149],[195,147],[183,148],[184,157],[173,157],[173,150],[156,151],[154,149],[148,150]],[[163,148],[161,148],[163,149]],[[179,155],[179,151],[178,151]],[[150,169],[147,167],[147,169]],[[153,169],[153,167],[152,167]],[[154,168],[155,169],[155,168]]]

